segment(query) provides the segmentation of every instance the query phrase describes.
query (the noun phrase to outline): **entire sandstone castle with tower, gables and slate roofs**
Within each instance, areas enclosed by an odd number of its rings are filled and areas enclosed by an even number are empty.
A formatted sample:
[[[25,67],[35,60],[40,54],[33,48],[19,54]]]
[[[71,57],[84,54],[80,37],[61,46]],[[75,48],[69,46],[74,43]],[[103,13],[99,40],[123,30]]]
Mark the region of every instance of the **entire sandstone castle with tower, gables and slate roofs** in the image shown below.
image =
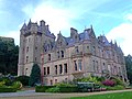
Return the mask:
[[[108,42],[105,35],[96,37],[92,26],[81,33],[70,28],[70,36],[56,36],[42,20],[30,22],[20,30],[18,75],[30,76],[34,63],[41,68],[42,84],[54,85],[79,77],[120,77],[127,81],[122,50]]]

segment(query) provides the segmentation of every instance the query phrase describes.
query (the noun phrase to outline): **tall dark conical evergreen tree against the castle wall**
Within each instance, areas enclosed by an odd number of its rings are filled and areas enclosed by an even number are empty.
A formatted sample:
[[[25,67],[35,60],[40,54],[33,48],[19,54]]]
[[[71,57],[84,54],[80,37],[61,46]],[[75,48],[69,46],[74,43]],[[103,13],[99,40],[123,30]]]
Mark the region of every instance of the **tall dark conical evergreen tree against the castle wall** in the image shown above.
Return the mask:
[[[35,86],[41,82],[41,69],[37,64],[34,64],[31,70],[29,86]]]

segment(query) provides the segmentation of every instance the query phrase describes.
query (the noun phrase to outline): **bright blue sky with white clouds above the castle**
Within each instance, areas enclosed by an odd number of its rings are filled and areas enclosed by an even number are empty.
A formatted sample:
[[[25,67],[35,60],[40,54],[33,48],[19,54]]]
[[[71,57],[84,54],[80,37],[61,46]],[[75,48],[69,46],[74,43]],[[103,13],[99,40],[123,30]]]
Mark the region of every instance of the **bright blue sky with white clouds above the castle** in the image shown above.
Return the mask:
[[[0,0],[0,36],[20,43],[20,29],[44,20],[52,33],[69,36],[92,25],[97,36],[117,41],[124,55],[132,55],[132,0]]]

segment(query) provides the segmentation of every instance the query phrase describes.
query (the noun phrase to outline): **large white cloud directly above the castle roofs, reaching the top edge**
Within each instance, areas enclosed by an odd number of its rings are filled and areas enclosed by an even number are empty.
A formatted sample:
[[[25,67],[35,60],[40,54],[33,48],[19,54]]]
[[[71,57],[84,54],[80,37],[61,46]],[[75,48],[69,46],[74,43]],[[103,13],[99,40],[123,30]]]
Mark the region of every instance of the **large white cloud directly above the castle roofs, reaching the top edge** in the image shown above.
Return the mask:
[[[50,24],[51,32],[69,31],[74,26],[75,20],[80,20],[86,12],[90,12],[98,6],[109,1],[101,0],[44,0],[33,8],[28,4],[22,11],[32,19],[32,21],[45,20]]]

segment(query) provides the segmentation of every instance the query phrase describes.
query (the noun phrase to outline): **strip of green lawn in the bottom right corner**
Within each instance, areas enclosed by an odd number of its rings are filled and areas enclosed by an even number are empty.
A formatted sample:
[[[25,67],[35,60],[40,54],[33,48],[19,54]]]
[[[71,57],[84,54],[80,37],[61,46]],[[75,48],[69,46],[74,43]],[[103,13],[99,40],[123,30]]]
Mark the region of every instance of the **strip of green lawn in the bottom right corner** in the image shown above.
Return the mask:
[[[94,95],[87,97],[73,97],[70,99],[132,99],[132,91]]]

